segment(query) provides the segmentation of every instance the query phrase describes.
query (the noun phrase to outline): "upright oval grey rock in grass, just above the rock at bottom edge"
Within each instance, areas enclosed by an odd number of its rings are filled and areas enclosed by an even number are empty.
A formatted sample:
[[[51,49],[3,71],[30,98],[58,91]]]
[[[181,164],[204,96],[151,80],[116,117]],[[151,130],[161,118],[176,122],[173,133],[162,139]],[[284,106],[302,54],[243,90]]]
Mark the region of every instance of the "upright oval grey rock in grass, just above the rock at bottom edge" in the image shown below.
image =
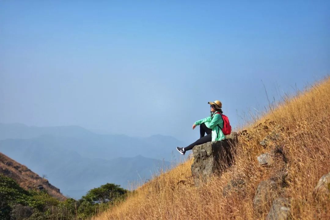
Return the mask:
[[[274,180],[261,181],[253,199],[254,210],[258,213],[267,211],[271,202],[278,196],[278,184]]]

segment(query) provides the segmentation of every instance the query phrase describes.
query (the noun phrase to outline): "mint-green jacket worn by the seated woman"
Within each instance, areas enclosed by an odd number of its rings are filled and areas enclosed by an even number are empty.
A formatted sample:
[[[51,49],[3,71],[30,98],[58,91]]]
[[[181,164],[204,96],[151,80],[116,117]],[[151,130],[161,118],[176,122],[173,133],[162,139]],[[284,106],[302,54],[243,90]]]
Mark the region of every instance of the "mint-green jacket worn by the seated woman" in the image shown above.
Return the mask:
[[[212,129],[212,141],[220,141],[225,139],[225,135],[221,130],[221,128],[223,128],[223,119],[220,114],[215,114],[216,112],[214,112],[214,114],[211,112],[209,117],[203,118],[194,123],[195,125],[205,123],[206,127]],[[219,128],[217,125],[219,125],[221,128]]]

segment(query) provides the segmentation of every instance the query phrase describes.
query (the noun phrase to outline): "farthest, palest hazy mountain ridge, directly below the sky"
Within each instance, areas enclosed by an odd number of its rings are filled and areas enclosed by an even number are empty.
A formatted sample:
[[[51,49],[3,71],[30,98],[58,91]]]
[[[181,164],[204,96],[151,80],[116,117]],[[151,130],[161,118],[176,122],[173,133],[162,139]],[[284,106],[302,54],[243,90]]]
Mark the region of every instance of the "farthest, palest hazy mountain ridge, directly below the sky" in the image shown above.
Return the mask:
[[[136,138],[126,135],[95,134],[79,126],[36,127],[18,123],[0,123],[0,139],[4,140],[1,141],[3,144],[12,147],[66,149],[76,151],[82,157],[106,160],[142,155],[172,161],[180,156],[175,148],[187,145],[171,136]]]

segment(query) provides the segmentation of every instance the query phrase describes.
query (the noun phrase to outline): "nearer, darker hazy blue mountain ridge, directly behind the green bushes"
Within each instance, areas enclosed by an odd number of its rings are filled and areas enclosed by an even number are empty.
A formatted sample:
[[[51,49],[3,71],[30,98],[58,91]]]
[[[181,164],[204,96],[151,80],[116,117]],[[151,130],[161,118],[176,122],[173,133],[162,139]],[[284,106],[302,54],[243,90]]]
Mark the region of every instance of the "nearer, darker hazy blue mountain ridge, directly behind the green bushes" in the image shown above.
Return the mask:
[[[8,140],[6,140],[8,141]],[[19,140],[15,140],[19,141]],[[0,151],[39,175],[46,174],[63,195],[79,199],[88,190],[107,182],[132,189],[170,166],[167,161],[141,155],[112,160],[84,158],[75,151],[0,143]],[[133,184],[131,186],[130,184]]]

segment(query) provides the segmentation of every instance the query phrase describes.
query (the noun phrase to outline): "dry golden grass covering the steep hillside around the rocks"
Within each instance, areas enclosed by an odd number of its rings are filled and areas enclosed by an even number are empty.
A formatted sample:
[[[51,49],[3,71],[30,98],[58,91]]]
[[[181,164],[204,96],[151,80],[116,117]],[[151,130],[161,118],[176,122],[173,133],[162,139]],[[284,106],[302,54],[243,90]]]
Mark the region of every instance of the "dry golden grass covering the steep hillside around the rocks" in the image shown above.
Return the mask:
[[[255,191],[262,180],[287,170],[285,196],[291,198],[292,219],[330,219],[330,198],[317,201],[313,189],[330,171],[330,79],[308,91],[285,99],[275,110],[247,126],[239,137],[234,165],[221,176],[195,187],[192,159],[153,178],[125,202],[110,207],[93,220],[108,219],[264,219],[267,212],[253,209]],[[271,132],[281,134],[267,147],[259,144]],[[282,147],[287,163],[280,158],[262,167],[256,157]],[[223,195],[232,179],[245,185]],[[184,181],[181,181],[184,180]]]

